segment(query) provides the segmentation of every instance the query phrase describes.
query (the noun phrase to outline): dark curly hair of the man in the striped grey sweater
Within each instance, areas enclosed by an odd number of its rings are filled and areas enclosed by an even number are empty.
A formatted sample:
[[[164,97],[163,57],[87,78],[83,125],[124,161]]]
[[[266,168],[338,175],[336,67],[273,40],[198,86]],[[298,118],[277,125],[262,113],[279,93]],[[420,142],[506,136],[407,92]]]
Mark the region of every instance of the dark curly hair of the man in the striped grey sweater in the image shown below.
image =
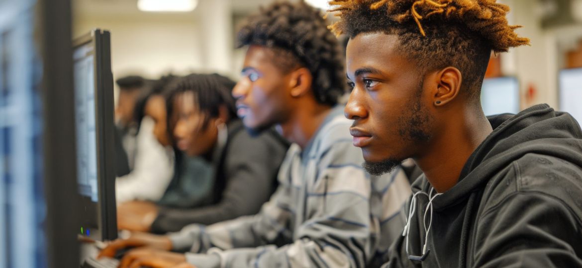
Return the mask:
[[[237,34],[237,47],[266,46],[283,73],[306,67],[313,75],[315,99],[333,106],[346,83],[342,49],[327,25],[321,11],[303,1],[275,2],[249,17]]]

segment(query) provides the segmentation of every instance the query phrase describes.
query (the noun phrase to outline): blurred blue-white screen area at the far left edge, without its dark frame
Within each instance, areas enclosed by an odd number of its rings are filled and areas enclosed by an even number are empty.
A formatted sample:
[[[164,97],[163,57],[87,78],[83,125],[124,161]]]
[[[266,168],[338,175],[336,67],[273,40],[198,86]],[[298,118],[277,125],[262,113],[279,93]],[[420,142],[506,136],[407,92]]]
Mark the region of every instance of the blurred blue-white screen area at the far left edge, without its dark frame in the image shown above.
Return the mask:
[[[36,1],[0,1],[0,267],[45,267]]]

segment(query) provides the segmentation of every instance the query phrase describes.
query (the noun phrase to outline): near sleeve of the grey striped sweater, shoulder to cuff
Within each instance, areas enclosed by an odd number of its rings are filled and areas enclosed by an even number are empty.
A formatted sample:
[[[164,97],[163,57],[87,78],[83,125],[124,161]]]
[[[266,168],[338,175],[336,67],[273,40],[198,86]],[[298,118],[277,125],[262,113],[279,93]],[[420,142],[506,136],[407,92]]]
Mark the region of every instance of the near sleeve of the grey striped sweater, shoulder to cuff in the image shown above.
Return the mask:
[[[319,152],[306,168],[305,176],[313,176],[305,183],[306,205],[290,212],[305,216],[294,241],[282,247],[211,249],[221,257],[221,267],[365,267],[372,249],[371,189],[360,167],[361,152],[346,140]]]

